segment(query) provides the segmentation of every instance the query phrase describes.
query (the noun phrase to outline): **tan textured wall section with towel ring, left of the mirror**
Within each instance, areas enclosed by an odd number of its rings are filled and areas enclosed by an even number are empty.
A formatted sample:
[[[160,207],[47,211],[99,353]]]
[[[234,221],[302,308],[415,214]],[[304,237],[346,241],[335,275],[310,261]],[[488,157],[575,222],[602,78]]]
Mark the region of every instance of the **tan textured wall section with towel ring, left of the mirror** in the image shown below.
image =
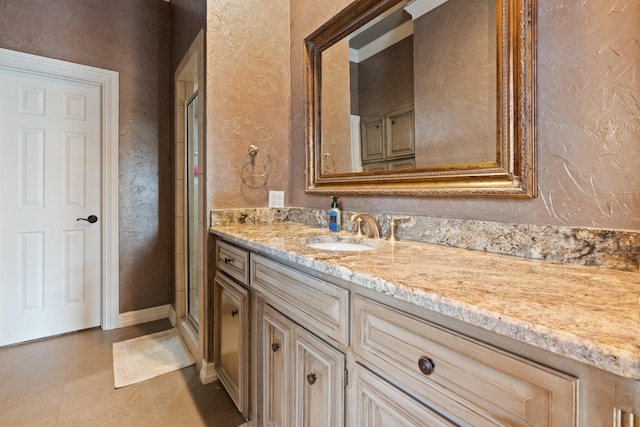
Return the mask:
[[[209,0],[206,46],[208,208],[266,207],[269,190],[288,205],[289,0]]]

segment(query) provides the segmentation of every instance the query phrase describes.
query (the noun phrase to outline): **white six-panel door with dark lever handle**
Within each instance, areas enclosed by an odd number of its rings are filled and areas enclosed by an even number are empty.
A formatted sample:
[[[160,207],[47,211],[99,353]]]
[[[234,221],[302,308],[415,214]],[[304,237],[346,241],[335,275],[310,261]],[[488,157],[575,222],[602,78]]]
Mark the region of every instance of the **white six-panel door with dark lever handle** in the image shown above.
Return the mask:
[[[99,326],[100,87],[0,69],[0,94],[0,346]]]

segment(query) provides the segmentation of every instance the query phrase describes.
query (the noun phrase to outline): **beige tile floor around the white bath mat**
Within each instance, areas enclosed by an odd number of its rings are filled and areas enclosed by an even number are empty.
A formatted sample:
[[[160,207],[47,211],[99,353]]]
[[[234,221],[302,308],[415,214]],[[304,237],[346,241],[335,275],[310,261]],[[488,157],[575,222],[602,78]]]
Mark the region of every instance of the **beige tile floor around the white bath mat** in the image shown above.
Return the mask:
[[[244,423],[220,383],[202,385],[195,366],[114,389],[111,344],[169,328],[159,320],[0,348],[0,426]]]

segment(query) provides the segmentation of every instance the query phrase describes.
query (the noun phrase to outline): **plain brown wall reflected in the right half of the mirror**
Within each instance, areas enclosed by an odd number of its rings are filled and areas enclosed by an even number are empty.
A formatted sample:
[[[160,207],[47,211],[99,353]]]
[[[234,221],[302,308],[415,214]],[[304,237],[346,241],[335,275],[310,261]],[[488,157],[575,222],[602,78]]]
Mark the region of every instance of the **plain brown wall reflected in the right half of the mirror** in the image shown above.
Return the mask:
[[[449,0],[414,21],[418,167],[496,161],[495,4]]]

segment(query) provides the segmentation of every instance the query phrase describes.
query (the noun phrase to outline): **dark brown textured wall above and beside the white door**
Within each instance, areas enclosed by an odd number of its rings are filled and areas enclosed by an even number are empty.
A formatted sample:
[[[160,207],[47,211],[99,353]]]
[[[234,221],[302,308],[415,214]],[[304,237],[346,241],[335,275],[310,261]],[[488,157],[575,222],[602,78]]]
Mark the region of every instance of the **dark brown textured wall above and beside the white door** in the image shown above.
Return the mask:
[[[0,47],[119,72],[120,312],[171,289],[169,5],[1,0]]]

